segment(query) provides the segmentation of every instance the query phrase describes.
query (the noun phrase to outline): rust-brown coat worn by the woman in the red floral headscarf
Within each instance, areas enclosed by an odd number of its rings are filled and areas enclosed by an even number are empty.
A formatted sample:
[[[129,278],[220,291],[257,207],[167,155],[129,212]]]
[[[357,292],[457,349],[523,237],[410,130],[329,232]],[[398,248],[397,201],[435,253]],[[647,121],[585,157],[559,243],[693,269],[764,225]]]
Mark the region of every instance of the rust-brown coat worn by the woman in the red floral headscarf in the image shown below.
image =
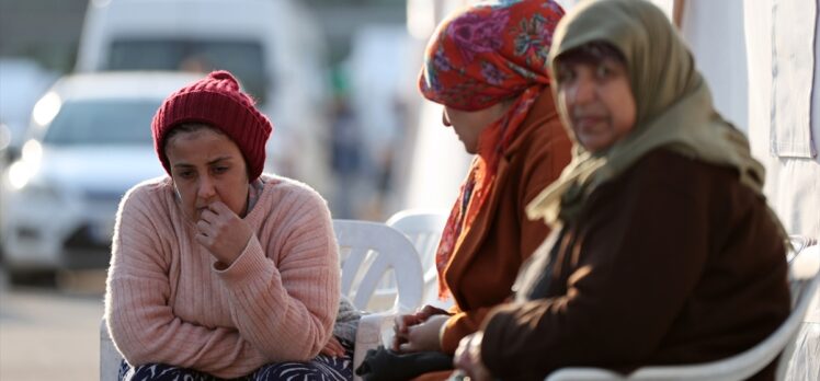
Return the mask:
[[[496,186],[444,272],[456,302],[442,335],[444,353],[453,354],[464,336],[478,331],[490,308],[512,296],[521,264],[549,233],[543,221],[531,221],[524,212],[571,159],[571,142],[548,88],[519,128],[499,163]]]

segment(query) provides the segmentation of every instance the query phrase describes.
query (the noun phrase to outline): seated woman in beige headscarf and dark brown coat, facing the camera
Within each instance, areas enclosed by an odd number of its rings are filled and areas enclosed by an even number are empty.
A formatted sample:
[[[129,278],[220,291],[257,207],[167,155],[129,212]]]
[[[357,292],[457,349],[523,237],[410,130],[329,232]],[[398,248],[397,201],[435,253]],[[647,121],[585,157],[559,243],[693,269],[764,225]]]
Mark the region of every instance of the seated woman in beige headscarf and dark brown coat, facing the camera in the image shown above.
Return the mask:
[[[786,236],[763,169],[665,15],[646,1],[582,3],[550,59],[573,159],[527,212],[555,233],[456,365],[472,380],[628,372],[717,360],[774,332],[789,312]]]

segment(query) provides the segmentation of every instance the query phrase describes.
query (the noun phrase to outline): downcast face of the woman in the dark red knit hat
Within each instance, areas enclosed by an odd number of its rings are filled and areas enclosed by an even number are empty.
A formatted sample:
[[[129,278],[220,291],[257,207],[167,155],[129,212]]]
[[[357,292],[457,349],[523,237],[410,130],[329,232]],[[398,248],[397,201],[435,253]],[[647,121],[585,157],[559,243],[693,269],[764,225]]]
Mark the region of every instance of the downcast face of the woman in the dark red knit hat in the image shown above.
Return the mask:
[[[171,177],[192,221],[210,203],[221,201],[240,217],[248,203],[248,171],[239,147],[226,135],[205,127],[168,138],[166,155]]]

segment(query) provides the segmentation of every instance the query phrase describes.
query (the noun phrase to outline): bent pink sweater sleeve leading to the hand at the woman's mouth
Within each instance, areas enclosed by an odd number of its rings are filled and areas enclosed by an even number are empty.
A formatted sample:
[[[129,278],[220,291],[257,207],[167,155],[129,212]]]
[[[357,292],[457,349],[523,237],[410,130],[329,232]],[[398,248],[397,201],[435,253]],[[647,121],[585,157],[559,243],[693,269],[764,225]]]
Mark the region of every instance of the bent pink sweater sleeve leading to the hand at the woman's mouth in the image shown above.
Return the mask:
[[[237,261],[218,272],[239,332],[271,361],[316,357],[332,333],[341,295],[324,200],[308,190],[291,196],[282,203],[287,205],[284,222],[274,228],[284,238],[281,247],[265,250],[253,236]]]

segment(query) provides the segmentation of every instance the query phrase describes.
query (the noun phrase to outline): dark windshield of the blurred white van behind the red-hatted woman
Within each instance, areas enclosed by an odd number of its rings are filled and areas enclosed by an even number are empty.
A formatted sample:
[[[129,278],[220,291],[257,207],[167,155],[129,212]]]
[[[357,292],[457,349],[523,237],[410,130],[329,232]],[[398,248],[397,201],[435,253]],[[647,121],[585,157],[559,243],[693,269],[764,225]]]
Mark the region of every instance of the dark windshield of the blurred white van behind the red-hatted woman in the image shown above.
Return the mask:
[[[242,41],[119,39],[111,45],[109,70],[185,70],[235,73],[255,100],[265,100],[262,46]]]

